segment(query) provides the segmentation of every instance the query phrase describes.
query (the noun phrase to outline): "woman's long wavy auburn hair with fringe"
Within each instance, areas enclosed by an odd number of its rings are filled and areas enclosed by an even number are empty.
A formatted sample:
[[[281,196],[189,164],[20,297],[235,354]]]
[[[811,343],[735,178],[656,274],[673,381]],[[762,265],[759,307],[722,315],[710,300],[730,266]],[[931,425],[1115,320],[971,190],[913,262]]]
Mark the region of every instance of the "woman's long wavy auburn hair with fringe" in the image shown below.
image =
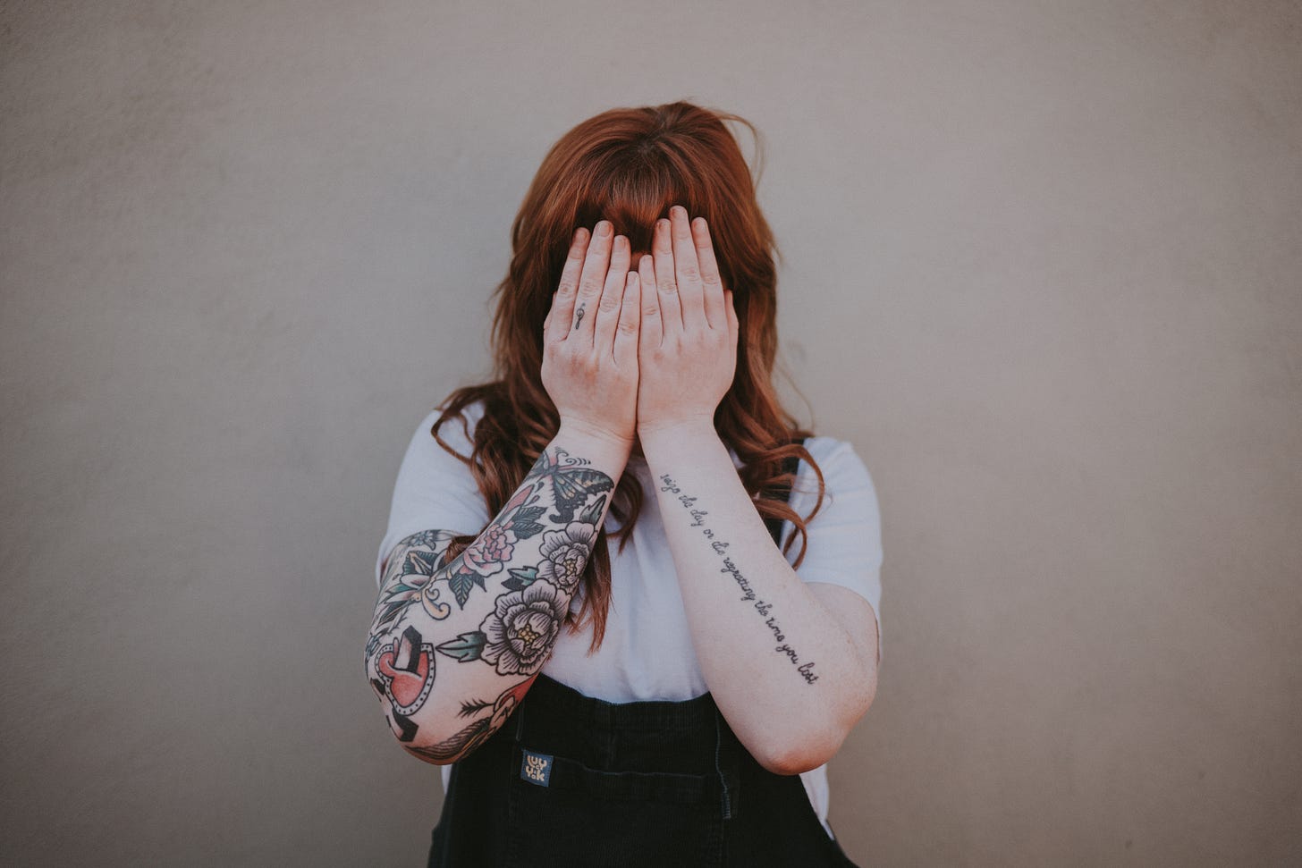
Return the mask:
[[[751,131],[759,161],[760,137],[750,121],[687,102],[603,112],[562,135],[543,159],[510,226],[506,277],[492,293],[493,379],[456,389],[435,407],[441,415],[430,429],[447,452],[469,465],[490,515],[496,517],[505,506],[560,428],[556,406],[542,383],[542,323],[574,229],[605,219],[615,233],[629,238],[630,250],[650,250],[655,221],[668,216],[671,206],[681,204],[689,215],[700,215],[710,224],[720,278],[732,288],[737,310],[737,371],[715,411],[715,429],[743,462],[738,475],[756,498],[759,514],[793,523],[796,532],[788,537],[784,554],[798,535],[796,565],[803,561],[806,522],[823,505],[823,471],[799,442],[811,432],[783,409],[773,389],[775,256],[781,254],[755,200],[755,180],[724,121],[740,122]],[[439,436],[439,429],[460,418],[469,436],[464,411],[475,402],[483,403],[483,414],[474,428],[471,454],[461,455]],[[773,485],[794,483],[794,474],[781,472],[783,459],[789,455],[799,455],[818,476],[818,500],[805,518],[785,500],[772,497]],[[615,536],[621,552],[642,511],[642,500],[641,483],[633,474],[622,474],[609,508],[620,519]],[[454,537],[448,560],[477,536]],[[572,634],[591,618],[590,655],[605,635],[609,604],[611,561],[602,528],[583,574],[582,606],[566,616]]]

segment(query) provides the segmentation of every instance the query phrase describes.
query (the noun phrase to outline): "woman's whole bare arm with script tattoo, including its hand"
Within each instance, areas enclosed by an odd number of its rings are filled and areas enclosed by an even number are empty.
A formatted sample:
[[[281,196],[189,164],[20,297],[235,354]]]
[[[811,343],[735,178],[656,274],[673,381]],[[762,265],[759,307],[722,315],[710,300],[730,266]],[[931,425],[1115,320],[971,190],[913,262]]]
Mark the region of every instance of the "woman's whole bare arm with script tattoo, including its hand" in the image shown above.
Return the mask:
[[[741,323],[706,220],[672,207],[638,269],[656,288],[638,334],[638,435],[700,669],[759,763],[812,769],[867,711],[876,665],[773,545],[716,432]]]

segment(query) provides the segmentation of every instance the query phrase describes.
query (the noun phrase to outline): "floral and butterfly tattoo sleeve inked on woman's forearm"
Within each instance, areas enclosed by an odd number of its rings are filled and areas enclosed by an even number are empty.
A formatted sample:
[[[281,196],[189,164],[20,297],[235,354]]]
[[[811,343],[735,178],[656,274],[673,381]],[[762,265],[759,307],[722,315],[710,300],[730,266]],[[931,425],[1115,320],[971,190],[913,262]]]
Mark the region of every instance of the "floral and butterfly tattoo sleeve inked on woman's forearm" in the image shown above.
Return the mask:
[[[615,488],[611,476],[589,463],[564,449],[544,450],[510,501],[456,558],[448,558],[456,537],[450,531],[421,531],[396,548],[381,580],[366,658],[391,727],[413,753],[441,761],[471,750],[500,726],[547,661]],[[522,545],[535,537],[538,543]],[[525,560],[530,552],[536,560]],[[465,609],[475,587],[487,590],[487,579],[495,579],[501,592],[479,629],[431,642],[431,619],[447,619],[452,600]],[[444,591],[450,600],[443,599]],[[418,747],[411,744],[418,730],[413,716],[430,696],[436,655],[458,662],[482,660],[500,675],[527,678],[493,703],[462,700],[460,716],[475,720],[445,742]]]

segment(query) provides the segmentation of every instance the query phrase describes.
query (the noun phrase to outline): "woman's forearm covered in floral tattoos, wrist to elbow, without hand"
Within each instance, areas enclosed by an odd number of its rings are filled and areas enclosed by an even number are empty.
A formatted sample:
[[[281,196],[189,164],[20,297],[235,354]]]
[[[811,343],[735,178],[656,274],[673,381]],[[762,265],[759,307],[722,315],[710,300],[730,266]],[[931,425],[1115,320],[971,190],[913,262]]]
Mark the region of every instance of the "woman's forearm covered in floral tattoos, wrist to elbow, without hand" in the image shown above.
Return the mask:
[[[431,528],[384,570],[366,671],[395,735],[447,764],[499,729],[551,655],[628,448],[565,427],[458,557]]]

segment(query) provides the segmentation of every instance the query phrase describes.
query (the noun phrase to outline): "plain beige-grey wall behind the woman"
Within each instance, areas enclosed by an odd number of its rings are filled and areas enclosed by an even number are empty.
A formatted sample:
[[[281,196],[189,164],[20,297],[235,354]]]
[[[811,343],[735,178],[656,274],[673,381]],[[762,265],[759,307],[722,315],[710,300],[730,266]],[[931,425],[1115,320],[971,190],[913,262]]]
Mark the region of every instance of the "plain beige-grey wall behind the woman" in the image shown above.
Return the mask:
[[[0,861],[423,864],[402,449],[547,147],[678,98],[878,484],[852,858],[1302,859],[1297,4],[10,0],[0,70]]]

